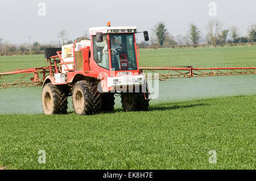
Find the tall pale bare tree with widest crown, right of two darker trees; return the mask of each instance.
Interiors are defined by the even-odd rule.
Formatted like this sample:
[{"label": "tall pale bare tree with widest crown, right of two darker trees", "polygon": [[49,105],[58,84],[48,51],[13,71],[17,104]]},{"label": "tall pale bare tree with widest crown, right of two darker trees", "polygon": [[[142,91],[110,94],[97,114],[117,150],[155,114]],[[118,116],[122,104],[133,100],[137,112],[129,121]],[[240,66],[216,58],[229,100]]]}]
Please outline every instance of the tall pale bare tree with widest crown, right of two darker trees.
[{"label": "tall pale bare tree with widest crown, right of two darker trees", "polygon": [[207,31],[207,41],[209,44],[216,47],[221,28],[224,26],[218,19],[210,20],[205,28]]}]

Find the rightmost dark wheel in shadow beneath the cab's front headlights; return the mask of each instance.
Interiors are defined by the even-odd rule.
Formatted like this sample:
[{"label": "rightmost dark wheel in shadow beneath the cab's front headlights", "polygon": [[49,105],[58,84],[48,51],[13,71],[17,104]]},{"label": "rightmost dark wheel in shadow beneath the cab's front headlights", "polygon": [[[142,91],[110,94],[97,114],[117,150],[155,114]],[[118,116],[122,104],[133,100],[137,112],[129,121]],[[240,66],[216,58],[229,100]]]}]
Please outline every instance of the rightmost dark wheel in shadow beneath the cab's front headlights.
[{"label": "rightmost dark wheel in shadow beneath the cab's front headlights", "polygon": [[121,103],[124,111],[147,111],[149,99],[143,93],[122,93]]}]

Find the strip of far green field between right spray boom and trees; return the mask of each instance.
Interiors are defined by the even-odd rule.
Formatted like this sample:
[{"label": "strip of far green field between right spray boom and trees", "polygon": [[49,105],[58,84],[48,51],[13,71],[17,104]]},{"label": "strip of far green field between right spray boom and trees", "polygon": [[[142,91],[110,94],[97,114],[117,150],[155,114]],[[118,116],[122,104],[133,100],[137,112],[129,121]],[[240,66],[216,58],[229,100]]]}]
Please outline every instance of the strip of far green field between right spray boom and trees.
[{"label": "strip of far green field between right spray boom and trees", "polygon": [[141,66],[245,67],[256,66],[256,47],[157,50],[141,49]]}]

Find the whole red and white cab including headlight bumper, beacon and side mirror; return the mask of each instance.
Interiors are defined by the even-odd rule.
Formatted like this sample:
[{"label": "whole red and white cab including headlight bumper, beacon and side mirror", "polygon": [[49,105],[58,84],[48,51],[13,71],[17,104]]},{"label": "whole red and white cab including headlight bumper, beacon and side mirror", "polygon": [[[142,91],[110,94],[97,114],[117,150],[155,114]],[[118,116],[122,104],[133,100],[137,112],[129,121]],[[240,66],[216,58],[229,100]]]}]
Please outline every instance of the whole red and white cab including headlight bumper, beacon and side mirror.
[{"label": "whole red and white cab including headlight bumper, beacon and side mirror", "polygon": [[[145,82],[139,75],[139,52],[135,26],[90,28],[92,59],[108,74],[109,90],[116,86],[137,86]],[[145,31],[144,39],[148,41]]]}]

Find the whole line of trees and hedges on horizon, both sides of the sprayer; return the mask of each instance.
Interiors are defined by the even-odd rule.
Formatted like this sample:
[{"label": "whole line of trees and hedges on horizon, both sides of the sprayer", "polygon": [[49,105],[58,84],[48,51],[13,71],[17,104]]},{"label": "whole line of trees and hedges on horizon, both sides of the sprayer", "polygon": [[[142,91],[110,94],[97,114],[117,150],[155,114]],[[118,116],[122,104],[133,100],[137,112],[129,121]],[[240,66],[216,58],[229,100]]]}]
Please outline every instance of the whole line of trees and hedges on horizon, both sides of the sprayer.
[{"label": "whole line of trees and hedges on horizon, both sides of the sprayer", "polygon": [[[152,28],[150,42],[141,41],[137,43],[139,46],[170,46],[170,45],[193,45],[207,44],[216,47],[219,44],[225,43],[250,43],[256,42],[256,23],[251,24],[247,29],[247,35],[241,36],[241,32],[237,26],[232,26],[228,29],[224,28],[224,23],[218,19],[209,20],[205,27],[206,34],[200,30],[194,23],[188,25],[186,35],[172,36],[168,31],[166,23],[158,22]],[[11,44],[9,41],[3,42],[0,37],[0,55],[7,54],[7,52],[29,52],[43,51],[45,48],[60,47],[65,44],[72,44],[75,40],[67,39],[67,31],[61,30],[57,37],[60,41],[51,41],[48,44],[40,44],[34,41],[32,44]],[[87,35],[77,37],[76,40],[88,39]],[[31,52],[30,52],[31,53]]]}]

